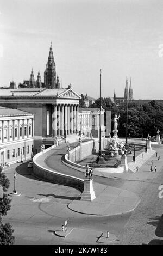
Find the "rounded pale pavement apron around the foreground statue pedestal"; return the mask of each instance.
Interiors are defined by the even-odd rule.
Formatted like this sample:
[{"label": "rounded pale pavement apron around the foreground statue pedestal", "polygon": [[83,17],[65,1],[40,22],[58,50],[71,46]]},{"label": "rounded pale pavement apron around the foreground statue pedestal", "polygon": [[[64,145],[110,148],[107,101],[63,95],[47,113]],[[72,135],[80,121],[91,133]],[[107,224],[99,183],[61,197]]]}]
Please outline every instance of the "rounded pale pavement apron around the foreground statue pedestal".
[{"label": "rounded pale pavement apron around the foreground statue pedestal", "polygon": [[92,202],[73,200],[68,205],[72,211],[90,215],[120,215],[133,211],[140,203],[136,194],[93,182],[96,198]]}]

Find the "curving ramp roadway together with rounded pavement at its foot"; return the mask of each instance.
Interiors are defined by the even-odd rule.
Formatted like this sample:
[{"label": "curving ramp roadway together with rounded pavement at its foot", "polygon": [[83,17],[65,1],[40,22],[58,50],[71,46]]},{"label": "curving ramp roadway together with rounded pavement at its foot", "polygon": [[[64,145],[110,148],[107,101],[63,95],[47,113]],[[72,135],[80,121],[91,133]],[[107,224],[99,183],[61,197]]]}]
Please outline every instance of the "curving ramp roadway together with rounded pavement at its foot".
[{"label": "curving ramp roadway together with rounded pavement at its foot", "polygon": [[[59,173],[60,170],[60,173],[74,176],[75,178],[81,179],[82,176],[84,181],[83,172],[85,172],[85,170],[83,170],[83,172],[78,172],[78,170],[67,167],[61,162],[62,155],[66,153],[65,148],[67,148],[66,145],[62,144],[51,152],[48,151],[38,157],[36,162],[51,170],[52,167],[55,166],[55,169],[53,168],[53,170],[57,173]],[[99,175],[101,175],[101,178],[105,181],[105,177],[102,174]],[[120,188],[98,184],[97,176],[96,182],[93,182],[93,188],[96,198],[92,202],[80,201],[78,198],[77,200],[73,200],[73,202],[68,205],[68,208],[81,214],[112,216],[130,212],[140,203],[140,198],[134,193]]]}]

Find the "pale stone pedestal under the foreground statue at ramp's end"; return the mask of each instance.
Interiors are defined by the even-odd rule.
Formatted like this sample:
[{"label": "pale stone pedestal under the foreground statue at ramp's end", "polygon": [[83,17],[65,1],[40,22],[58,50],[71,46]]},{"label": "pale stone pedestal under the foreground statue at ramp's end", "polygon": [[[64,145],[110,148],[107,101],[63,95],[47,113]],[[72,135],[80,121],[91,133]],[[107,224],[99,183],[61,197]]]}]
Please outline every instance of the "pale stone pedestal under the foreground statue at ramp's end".
[{"label": "pale stone pedestal under the foreground statue at ramp's end", "polygon": [[81,196],[82,201],[93,201],[95,199],[95,192],[93,190],[93,180],[85,179],[84,180],[84,191]]}]

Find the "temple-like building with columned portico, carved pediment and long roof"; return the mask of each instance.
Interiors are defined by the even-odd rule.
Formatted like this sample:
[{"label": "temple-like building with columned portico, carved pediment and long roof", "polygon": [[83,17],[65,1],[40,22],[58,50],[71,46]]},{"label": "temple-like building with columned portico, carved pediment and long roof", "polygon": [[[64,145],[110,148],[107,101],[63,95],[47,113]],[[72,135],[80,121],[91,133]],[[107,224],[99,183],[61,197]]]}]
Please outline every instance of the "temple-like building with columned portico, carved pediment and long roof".
[{"label": "temple-like building with columned portico, carved pediment and long roof", "polygon": [[52,145],[58,138],[79,133],[79,99],[71,85],[63,89],[21,88],[1,90],[0,105],[35,114],[36,153],[41,144]]}]

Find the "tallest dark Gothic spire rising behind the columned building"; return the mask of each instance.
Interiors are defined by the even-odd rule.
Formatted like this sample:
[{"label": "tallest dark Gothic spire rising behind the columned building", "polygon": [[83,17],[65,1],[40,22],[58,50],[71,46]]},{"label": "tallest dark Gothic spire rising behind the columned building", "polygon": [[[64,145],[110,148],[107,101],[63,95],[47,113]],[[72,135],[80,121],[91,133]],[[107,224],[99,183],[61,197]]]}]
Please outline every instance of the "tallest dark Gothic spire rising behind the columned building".
[{"label": "tallest dark Gothic spire rising behind the columned building", "polygon": [[[49,51],[48,61],[46,64],[46,71],[44,72],[44,84],[46,88],[57,88],[56,84],[56,71],[55,71],[55,62],[52,50],[52,42]],[[59,86],[60,88],[60,86]]]}]

